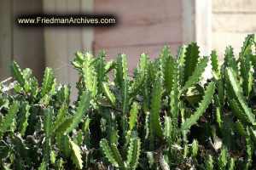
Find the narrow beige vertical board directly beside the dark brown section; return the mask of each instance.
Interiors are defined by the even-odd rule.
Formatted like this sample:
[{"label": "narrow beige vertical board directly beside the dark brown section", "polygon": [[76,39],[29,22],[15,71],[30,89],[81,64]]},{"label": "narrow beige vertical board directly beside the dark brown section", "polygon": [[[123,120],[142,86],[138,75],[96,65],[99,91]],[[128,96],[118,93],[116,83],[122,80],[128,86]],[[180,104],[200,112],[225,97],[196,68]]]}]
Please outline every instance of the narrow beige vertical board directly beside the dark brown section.
[{"label": "narrow beige vertical board directly beside the dark brown section", "polygon": [[[44,12],[63,14],[67,10],[67,0],[44,1]],[[46,65],[53,68],[60,83],[68,82],[67,28],[45,28]]]}]

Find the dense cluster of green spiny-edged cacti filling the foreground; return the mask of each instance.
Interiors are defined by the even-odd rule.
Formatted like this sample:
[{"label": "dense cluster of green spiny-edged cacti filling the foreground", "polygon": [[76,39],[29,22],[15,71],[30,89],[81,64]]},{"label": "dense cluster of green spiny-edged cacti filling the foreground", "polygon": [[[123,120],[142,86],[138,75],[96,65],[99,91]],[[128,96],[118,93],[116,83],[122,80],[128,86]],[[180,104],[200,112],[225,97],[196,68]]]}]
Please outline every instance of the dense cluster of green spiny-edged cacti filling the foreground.
[{"label": "dense cluster of green spiny-edged cacti filling the foreground", "polygon": [[107,62],[105,51],[79,52],[73,102],[50,68],[38,84],[12,62],[14,81],[0,83],[0,168],[253,169],[255,47],[248,35],[239,56],[229,46],[220,65],[195,42],[177,56],[165,46],[154,61],[141,54],[132,77],[125,54]]}]

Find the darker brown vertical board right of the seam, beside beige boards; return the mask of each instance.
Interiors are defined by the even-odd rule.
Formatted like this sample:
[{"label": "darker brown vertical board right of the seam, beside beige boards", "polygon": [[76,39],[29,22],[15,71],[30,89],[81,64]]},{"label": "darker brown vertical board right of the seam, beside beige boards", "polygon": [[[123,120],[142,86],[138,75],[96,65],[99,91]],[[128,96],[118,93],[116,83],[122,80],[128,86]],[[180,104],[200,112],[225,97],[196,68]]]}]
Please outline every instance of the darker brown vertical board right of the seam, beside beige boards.
[{"label": "darker brown vertical board right of the seam, beside beige boards", "polygon": [[[30,5],[27,5],[30,4]],[[21,68],[29,67],[38,79],[44,74],[44,31],[43,28],[20,27],[15,17],[19,14],[42,12],[41,0],[13,1],[13,54]]]}]

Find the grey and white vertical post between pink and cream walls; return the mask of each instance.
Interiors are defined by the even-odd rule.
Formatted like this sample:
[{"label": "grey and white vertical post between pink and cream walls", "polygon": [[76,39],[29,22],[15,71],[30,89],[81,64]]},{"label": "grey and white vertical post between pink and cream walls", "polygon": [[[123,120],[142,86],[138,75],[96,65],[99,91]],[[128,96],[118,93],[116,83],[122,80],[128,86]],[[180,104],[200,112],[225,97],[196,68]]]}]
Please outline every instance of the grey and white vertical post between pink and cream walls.
[{"label": "grey and white vertical post between pink and cream walls", "polygon": [[183,43],[197,42],[202,55],[212,48],[212,0],[183,0]]}]

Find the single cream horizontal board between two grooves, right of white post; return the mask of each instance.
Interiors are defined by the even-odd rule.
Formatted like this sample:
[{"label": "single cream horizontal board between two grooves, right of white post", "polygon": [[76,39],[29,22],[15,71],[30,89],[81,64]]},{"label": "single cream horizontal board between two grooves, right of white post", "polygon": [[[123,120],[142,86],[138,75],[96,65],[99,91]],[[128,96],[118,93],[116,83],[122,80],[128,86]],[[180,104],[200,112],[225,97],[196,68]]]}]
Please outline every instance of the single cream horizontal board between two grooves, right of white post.
[{"label": "single cream horizontal board between two grooves, right of white post", "polygon": [[255,14],[212,14],[212,31],[256,32]]}]

